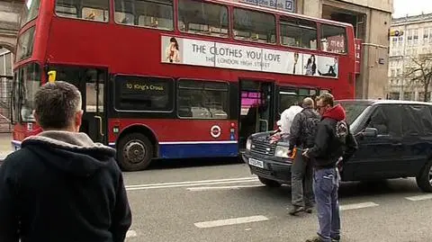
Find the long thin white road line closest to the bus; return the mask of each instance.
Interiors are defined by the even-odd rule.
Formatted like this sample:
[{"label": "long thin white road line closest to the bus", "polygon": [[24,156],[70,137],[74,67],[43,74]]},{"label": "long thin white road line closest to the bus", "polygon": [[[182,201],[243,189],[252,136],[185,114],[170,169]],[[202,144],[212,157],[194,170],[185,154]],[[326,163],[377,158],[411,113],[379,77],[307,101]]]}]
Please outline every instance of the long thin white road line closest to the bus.
[{"label": "long thin white road line closest to the bus", "polygon": [[171,188],[171,187],[184,187],[184,186],[195,186],[195,185],[207,185],[207,184],[240,184],[240,183],[251,183],[257,182],[257,177],[242,177],[233,179],[220,179],[220,180],[203,180],[203,181],[190,181],[190,182],[179,182],[179,183],[164,183],[164,184],[138,184],[138,185],[126,185],[126,190],[146,190],[146,189],[157,189],[157,188]]}]

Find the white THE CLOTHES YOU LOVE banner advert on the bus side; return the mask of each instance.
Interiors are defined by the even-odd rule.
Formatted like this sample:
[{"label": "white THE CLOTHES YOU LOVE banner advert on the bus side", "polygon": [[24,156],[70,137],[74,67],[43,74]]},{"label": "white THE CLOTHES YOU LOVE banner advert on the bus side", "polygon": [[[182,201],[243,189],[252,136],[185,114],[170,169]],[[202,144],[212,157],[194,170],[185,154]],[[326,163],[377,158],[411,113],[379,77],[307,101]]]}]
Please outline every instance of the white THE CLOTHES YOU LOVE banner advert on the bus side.
[{"label": "white THE CLOTHES YOU LOVE banner advert on the bus side", "polygon": [[169,36],[161,44],[163,63],[338,77],[338,58]]}]

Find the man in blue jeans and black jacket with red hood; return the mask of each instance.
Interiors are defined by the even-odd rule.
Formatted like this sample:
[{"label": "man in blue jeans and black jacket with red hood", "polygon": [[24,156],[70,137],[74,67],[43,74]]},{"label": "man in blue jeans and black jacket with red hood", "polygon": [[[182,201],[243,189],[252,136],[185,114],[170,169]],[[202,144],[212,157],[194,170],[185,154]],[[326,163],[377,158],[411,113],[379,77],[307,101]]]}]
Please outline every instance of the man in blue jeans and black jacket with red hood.
[{"label": "man in blue jeans and black jacket with red hood", "polygon": [[322,116],[318,124],[313,148],[303,156],[314,163],[313,191],[317,202],[320,229],[318,237],[310,242],[331,242],[340,239],[338,203],[338,161],[344,163],[357,149],[357,142],[349,130],[346,112],[341,105],[334,105],[332,94],[321,94],[317,108]]}]

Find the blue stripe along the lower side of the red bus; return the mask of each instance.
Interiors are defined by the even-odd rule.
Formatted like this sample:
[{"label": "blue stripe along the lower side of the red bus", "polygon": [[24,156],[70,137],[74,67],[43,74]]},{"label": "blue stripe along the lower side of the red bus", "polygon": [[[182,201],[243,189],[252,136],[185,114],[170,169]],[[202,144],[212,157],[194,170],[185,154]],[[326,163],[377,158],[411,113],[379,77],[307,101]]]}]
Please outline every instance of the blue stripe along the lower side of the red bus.
[{"label": "blue stripe along the lower side of the red bus", "polygon": [[238,144],[231,143],[195,143],[195,144],[160,144],[161,158],[193,157],[237,157]]}]

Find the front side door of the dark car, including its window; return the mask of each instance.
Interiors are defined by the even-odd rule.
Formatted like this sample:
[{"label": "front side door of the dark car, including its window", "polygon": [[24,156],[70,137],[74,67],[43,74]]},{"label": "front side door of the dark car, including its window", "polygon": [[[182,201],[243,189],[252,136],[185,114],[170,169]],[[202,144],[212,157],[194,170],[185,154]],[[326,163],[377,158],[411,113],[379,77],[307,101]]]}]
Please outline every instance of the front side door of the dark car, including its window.
[{"label": "front side door of the dark car, including its window", "polygon": [[378,130],[378,135],[357,139],[359,149],[350,164],[355,180],[392,176],[392,164],[403,153],[400,108],[398,104],[377,105],[365,122],[365,128]]}]

